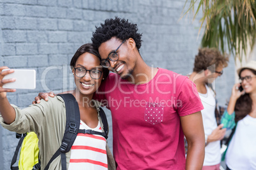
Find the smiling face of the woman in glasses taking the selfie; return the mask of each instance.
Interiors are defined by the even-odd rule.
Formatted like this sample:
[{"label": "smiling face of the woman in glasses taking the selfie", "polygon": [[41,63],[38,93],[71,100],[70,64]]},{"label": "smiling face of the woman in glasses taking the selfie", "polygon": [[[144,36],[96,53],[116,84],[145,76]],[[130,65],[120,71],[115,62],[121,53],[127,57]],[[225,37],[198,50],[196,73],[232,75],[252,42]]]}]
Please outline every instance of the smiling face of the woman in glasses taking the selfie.
[{"label": "smiling face of the woman in glasses taking the selfie", "polygon": [[75,74],[75,68],[72,70],[75,77],[76,88],[83,95],[93,95],[94,92],[101,85],[101,80],[103,79],[103,73],[101,73],[101,76],[99,77],[99,79],[93,79],[90,76],[90,72],[88,71],[88,70],[96,70],[97,72],[103,72],[103,69],[100,63],[101,62],[96,55],[92,55],[91,53],[88,53],[88,52],[83,53],[76,60],[75,68],[83,68],[87,70],[83,77],[78,77],[76,75],[78,72],[78,69],[76,69],[76,74]]}]

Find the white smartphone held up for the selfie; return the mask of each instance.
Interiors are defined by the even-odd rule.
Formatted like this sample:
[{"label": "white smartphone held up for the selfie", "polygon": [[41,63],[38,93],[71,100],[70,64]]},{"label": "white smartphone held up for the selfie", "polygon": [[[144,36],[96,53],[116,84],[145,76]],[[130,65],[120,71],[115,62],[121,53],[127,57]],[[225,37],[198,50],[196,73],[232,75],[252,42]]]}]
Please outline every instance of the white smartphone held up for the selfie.
[{"label": "white smartphone held up for the selfie", "polygon": [[[8,70],[8,69],[4,69]],[[3,70],[3,71],[4,71]],[[13,69],[14,72],[5,75],[4,79],[15,78],[15,82],[4,84],[3,88],[7,89],[35,89],[36,88],[36,70]]]}]

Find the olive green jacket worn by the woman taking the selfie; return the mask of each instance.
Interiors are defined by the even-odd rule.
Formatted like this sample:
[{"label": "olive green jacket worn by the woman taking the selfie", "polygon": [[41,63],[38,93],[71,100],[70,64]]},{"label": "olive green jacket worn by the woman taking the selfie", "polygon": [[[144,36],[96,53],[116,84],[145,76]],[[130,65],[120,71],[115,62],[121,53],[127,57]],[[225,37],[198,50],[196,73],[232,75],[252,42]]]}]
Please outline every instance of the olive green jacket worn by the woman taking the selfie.
[{"label": "olive green jacket worn by the woman taking the selfie", "polygon": [[[98,111],[98,119],[103,123],[99,116],[100,103],[95,101]],[[64,100],[60,96],[49,98],[48,101],[41,100],[39,104],[30,105],[27,108],[20,109],[12,105],[15,109],[15,121],[11,124],[5,124],[3,117],[0,115],[0,124],[3,128],[16,133],[27,133],[34,131],[38,136],[39,157],[41,160],[41,169],[45,169],[52,155],[59,149],[64,131],[66,128],[66,108]],[[108,156],[108,169],[115,169],[115,160],[106,145]],[[71,150],[66,153],[67,169],[69,166]],[[61,169],[60,155],[50,164],[49,169]]]}]

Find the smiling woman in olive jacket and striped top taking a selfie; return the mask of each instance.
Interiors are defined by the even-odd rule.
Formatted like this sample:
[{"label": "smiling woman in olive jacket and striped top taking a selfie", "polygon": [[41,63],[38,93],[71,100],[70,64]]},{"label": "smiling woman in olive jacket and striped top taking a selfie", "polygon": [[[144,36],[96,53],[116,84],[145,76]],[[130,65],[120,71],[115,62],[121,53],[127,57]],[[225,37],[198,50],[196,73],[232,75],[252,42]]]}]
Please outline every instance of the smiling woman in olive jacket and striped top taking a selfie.
[{"label": "smiling woman in olive jacket and striped top taking a selfie", "polygon": [[[71,94],[78,101],[80,129],[92,129],[101,133],[104,132],[99,116],[101,103],[92,100],[92,96],[101,85],[101,81],[108,77],[109,71],[101,67],[100,63],[99,53],[92,44],[84,44],[76,51],[70,66],[76,84]],[[36,133],[39,139],[41,169],[45,169],[46,164],[59,149],[66,129],[64,100],[60,96],[55,96],[48,102],[41,101],[39,104],[24,109],[10,105],[6,95],[7,92],[14,92],[15,89],[5,89],[3,85],[15,80],[3,80],[5,75],[13,72],[13,70],[2,71],[3,69],[8,69],[8,67],[0,67],[0,124],[3,128],[16,133],[31,131]],[[88,103],[83,102],[84,98]],[[66,153],[66,158],[68,169],[115,169],[115,161],[106,139],[99,134],[86,136],[78,134],[73,147]],[[53,160],[49,169],[62,169],[60,156]]]}]

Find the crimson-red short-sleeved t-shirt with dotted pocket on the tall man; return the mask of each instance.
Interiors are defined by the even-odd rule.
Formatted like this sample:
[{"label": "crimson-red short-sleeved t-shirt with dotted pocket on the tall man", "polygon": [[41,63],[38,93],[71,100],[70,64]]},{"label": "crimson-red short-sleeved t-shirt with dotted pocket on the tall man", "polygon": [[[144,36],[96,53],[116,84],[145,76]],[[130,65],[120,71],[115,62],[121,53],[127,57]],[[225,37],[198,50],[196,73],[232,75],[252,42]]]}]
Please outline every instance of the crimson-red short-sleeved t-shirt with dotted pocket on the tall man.
[{"label": "crimson-red short-sleeved t-shirt with dotted pocket on the tall man", "polygon": [[111,73],[95,98],[110,108],[117,169],[185,169],[180,116],[203,110],[195,84],[160,69],[145,84]]}]

